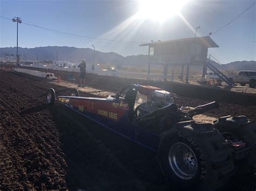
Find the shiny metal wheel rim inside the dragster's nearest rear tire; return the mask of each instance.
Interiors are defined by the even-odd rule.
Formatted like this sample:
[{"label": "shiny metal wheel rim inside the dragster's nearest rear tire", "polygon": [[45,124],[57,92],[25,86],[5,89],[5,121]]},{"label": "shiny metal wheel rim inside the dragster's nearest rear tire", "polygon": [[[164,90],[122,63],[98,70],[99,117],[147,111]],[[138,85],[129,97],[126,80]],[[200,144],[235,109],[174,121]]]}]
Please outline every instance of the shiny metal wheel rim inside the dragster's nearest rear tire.
[{"label": "shiny metal wheel rim inside the dragster's nearest rear tire", "polygon": [[185,143],[175,143],[169,149],[169,164],[172,171],[181,179],[189,180],[197,173],[196,154]]}]

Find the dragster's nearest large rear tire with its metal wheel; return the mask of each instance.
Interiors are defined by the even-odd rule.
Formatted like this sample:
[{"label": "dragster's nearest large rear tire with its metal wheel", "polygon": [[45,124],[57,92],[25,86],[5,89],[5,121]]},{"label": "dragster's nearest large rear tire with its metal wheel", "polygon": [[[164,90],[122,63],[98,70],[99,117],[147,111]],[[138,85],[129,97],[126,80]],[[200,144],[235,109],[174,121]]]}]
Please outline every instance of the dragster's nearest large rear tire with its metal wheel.
[{"label": "dragster's nearest large rear tire with its metal wheel", "polygon": [[[208,135],[212,138],[204,135],[206,139],[199,140],[198,132],[188,125],[162,138],[159,164],[166,179],[178,190],[214,190],[222,186],[233,171],[230,148],[218,146],[225,143],[225,139],[217,130],[209,132],[214,133]],[[211,141],[208,143],[208,140]],[[220,177],[225,173],[226,177]]]}]

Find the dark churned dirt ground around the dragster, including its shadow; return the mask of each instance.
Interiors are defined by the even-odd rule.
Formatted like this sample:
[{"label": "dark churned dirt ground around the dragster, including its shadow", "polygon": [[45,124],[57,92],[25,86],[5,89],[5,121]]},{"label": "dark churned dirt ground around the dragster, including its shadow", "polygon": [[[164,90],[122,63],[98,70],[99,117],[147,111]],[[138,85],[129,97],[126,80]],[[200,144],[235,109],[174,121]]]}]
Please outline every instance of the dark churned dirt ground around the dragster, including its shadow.
[{"label": "dark churned dirt ground around the dragster, including its shadow", "polygon": [[[0,189],[170,189],[151,151],[67,108],[46,105],[45,93],[52,86],[62,95],[69,93],[68,88],[0,70]],[[207,101],[177,99],[180,105],[187,102],[196,106]],[[255,107],[220,106],[208,115],[256,119]],[[237,180],[228,188],[252,187]]]}]

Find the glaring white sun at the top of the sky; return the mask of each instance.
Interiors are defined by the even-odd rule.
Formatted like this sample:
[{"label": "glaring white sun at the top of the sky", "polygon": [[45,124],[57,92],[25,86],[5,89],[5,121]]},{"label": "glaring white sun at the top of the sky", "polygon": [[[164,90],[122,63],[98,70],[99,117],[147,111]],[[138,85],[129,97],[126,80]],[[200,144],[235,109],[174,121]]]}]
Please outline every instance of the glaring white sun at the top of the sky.
[{"label": "glaring white sun at the top of the sky", "polygon": [[189,0],[140,0],[138,19],[151,19],[163,22],[174,15],[178,15],[180,9]]}]

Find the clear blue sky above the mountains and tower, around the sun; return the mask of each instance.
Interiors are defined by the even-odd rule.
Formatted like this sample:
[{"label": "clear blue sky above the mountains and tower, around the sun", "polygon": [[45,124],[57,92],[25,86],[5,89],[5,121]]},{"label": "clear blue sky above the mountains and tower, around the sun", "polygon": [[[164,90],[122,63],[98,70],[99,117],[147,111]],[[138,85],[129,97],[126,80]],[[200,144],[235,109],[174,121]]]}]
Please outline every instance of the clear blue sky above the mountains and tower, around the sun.
[{"label": "clear blue sky above the mountains and tower, around the sun", "polygon": [[[19,47],[92,48],[93,44],[97,51],[127,56],[147,54],[147,47],[140,47],[140,42],[194,37],[197,26],[200,26],[197,36],[208,36],[209,32],[217,31],[254,2],[190,0],[178,15],[158,21],[134,17],[140,10],[139,0],[0,0],[0,16],[22,18],[18,33]],[[221,63],[256,60],[255,18],[256,5],[224,29],[212,34],[211,38],[219,48],[210,48],[208,53]],[[93,39],[43,30],[24,23]],[[16,47],[16,23],[11,20],[0,18],[0,47]]]}]

